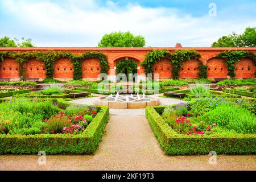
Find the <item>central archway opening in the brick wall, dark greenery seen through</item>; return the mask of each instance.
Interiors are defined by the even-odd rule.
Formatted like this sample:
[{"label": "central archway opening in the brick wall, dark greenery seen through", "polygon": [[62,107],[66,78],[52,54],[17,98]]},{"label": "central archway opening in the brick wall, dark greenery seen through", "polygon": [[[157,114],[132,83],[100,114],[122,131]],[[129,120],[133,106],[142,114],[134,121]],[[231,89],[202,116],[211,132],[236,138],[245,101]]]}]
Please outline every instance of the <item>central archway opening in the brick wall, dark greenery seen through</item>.
[{"label": "central archway opening in the brick wall, dark greenery seen through", "polygon": [[[137,82],[138,63],[133,60],[121,60],[117,62],[117,82],[120,81],[133,81]],[[127,80],[125,80],[125,78]]]}]

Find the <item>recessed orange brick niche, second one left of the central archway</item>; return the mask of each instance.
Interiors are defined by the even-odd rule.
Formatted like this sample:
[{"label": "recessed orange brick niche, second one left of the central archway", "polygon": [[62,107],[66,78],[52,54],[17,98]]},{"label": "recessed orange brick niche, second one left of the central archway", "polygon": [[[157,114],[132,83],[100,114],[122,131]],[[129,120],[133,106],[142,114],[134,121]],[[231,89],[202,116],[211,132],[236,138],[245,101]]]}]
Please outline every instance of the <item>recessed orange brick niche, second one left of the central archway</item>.
[{"label": "recessed orange brick niche, second one left of the central archway", "polygon": [[53,78],[61,80],[72,80],[74,74],[73,63],[67,58],[56,60],[53,64]]}]

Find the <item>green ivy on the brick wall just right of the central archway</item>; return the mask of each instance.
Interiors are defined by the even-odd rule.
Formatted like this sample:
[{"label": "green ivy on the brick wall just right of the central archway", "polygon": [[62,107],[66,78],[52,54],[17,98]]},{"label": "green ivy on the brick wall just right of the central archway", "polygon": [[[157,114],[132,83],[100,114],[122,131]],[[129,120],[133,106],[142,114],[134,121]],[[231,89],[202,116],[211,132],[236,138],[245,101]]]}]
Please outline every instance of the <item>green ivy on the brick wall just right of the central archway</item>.
[{"label": "green ivy on the brick wall just right of the central archway", "polygon": [[167,50],[153,50],[146,54],[146,59],[141,63],[145,68],[145,73],[154,73],[154,64],[164,57],[169,59],[172,64],[172,78],[179,79],[183,61],[199,59],[201,55],[195,50],[176,50],[172,53]]}]

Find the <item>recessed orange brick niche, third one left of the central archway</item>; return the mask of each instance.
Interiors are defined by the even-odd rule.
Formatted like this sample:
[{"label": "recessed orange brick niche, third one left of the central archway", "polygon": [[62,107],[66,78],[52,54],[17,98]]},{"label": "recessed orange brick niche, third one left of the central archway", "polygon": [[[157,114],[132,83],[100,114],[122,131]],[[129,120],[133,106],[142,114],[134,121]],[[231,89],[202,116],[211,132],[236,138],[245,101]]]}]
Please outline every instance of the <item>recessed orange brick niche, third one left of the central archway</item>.
[{"label": "recessed orange brick niche, third one left of the central archway", "polygon": [[46,78],[46,68],[43,61],[36,59],[28,60],[25,65],[27,78]]}]

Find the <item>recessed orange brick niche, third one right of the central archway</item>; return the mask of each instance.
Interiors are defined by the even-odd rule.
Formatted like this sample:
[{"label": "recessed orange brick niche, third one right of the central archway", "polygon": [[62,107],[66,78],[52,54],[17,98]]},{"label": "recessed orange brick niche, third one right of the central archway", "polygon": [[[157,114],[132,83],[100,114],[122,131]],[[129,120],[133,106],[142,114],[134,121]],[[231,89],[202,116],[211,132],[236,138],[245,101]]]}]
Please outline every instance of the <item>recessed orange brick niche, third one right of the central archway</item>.
[{"label": "recessed orange brick niche, third one right of the central archway", "polygon": [[207,77],[208,78],[227,78],[228,68],[224,63],[224,59],[213,57],[207,60]]}]

